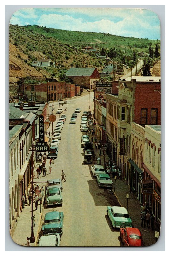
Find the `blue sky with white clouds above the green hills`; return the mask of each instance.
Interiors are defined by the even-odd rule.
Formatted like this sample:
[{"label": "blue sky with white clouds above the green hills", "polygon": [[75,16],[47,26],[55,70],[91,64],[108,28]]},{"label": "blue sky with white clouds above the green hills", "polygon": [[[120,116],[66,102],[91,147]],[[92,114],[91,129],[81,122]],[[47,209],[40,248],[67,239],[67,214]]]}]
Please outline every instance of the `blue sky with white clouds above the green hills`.
[{"label": "blue sky with white clouds above the green hills", "polygon": [[160,40],[158,15],[147,9],[26,8],[15,12],[10,23]]}]

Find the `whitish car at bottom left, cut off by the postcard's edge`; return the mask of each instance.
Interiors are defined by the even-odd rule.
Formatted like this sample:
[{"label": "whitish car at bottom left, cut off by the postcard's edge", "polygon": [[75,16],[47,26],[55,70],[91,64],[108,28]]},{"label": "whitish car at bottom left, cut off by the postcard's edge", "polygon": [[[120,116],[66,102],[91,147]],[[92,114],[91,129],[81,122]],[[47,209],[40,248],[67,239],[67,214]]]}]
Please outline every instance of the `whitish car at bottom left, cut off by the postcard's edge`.
[{"label": "whitish car at bottom left, cut off by the postcard's edge", "polygon": [[40,237],[40,240],[38,242],[38,246],[55,247],[55,246],[60,246],[60,243],[61,243],[61,237],[60,237],[59,234],[57,234],[57,235],[46,235],[46,236],[41,236]]}]

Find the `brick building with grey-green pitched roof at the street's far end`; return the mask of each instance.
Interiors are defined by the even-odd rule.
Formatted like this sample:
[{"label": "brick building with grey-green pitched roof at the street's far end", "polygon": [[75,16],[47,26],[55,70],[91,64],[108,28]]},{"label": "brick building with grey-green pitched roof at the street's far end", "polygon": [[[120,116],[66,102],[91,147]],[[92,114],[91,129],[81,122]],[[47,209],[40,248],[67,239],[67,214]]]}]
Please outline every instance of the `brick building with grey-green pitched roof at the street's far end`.
[{"label": "brick building with grey-green pitched roof at the street's far end", "polygon": [[70,68],[67,70],[67,77],[83,88],[94,89],[94,82],[100,80],[97,68]]}]

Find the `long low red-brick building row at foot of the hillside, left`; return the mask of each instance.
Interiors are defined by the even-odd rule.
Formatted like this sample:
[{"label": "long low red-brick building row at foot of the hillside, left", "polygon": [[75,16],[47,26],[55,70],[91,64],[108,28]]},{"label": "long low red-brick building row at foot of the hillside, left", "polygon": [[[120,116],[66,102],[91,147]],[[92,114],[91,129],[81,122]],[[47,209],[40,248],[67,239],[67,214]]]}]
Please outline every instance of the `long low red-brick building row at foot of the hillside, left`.
[{"label": "long low red-brick building row at foot of the hillside, left", "polygon": [[24,95],[31,99],[31,93],[34,94],[34,100],[39,102],[55,101],[75,96],[75,85],[66,82],[47,82],[39,84],[23,84]]}]

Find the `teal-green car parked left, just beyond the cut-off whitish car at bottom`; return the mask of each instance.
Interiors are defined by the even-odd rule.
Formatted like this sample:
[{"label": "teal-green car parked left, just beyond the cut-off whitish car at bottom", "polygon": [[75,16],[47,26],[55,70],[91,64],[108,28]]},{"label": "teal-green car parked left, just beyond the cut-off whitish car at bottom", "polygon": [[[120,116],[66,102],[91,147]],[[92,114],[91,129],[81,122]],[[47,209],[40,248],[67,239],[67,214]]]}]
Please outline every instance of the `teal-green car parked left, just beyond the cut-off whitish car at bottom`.
[{"label": "teal-green car parked left, just beyond the cut-off whitish car at bottom", "polygon": [[63,212],[47,212],[44,217],[44,224],[43,224],[43,235],[48,234],[63,234]]}]

